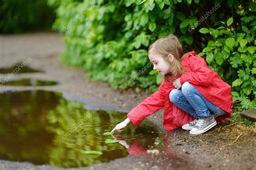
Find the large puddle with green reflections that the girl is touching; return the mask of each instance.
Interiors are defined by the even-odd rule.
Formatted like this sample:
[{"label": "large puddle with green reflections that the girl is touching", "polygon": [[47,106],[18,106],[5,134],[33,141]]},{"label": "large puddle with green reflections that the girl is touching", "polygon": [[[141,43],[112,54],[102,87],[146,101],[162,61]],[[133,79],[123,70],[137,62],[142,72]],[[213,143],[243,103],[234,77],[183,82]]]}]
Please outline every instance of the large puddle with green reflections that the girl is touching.
[{"label": "large puddle with green reflections that the girl is touching", "polygon": [[160,150],[154,142],[162,139],[147,124],[137,128],[129,124],[116,133],[122,145],[106,144],[106,139],[113,138],[103,133],[110,132],[126,114],[85,110],[84,104],[66,100],[59,92],[8,92],[0,94],[0,101],[0,159],[68,168],[108,162],[129,153],[139,155],[146,149]]}]

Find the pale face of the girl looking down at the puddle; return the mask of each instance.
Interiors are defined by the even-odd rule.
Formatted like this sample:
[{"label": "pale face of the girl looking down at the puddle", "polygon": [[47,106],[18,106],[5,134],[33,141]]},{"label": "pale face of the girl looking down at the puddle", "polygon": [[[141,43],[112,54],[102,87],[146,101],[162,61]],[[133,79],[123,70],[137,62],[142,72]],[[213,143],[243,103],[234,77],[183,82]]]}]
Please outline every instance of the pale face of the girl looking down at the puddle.
[{"label": "pale face of the girl looking down at the puddle", "polygon": [[153,63],[153,70],[158,71],[162,76],[169,73],[170,65],[165,62],[162,57],[155,55],[152,52],[149,52],[150,62]]}]

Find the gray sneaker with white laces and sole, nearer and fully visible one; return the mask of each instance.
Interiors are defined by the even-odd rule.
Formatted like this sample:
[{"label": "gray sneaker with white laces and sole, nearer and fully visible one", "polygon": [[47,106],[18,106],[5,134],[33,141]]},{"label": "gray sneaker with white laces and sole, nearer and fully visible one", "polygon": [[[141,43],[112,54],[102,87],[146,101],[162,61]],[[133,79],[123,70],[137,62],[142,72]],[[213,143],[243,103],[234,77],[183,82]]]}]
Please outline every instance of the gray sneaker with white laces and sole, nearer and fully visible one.
[{"label": "gray sneaker with white laces and sole, nearer and fully visible one", "polygon": [[217,125],[217,122],[214,118],[213,114],[210,114],[208,118],[199,117],[198,122],[194,127],[190,130],[190,134],[201,134],[210,130],[212,127]]}]

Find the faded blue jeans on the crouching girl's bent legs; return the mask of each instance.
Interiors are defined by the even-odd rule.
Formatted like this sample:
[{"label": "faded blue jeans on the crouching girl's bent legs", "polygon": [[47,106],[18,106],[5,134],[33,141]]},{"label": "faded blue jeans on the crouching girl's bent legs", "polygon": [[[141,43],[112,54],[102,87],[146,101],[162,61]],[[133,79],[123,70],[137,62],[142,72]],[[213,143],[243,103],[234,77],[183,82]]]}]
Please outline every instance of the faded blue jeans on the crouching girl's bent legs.
[{"label": "faded blue jeans on the crouching girl's bent legs", "polygon": [[181,90],[173,89],[169,94],[169,99],[174,105],[194,118],[208,117],[210,113],[219,117],[227,113],[208,101],[187,81],[183,83]]}]

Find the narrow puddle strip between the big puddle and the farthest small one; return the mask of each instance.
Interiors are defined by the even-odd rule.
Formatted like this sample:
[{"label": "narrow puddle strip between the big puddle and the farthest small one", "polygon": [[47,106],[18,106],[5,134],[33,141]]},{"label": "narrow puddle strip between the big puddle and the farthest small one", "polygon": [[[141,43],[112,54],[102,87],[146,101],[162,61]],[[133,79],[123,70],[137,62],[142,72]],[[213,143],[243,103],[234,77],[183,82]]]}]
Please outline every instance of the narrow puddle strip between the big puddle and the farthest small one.
[{"label": "narrow puddle strip between the big puddle and the farthest small one", "polygon": [[19,80],[10,80],[10,81],[0,81],[0,85],[8,86],[52,86],[57,85],[56,81],[43,81],[37,79],[19,79]]}]

